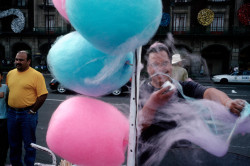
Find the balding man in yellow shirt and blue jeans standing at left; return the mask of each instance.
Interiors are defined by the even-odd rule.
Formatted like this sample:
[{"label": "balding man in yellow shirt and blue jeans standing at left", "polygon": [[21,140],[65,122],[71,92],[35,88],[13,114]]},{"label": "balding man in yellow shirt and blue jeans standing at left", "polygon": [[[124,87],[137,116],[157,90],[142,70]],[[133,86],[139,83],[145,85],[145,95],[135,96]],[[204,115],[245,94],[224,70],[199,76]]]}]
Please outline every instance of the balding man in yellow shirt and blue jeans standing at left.
[{"label": "balding man in yellow shirt and blue jeans standing at left", "polygon": [[30,146],[36,143],[38,109],[44,103],[48,91],[43,75],[30,67],[31,55],[26,51],[16,54],[16,69],[9,71],[6,84],[8,97],[8,136],[10,162],[13,166],[23,165],[22,143],[24,143],[26,166],[33,166],[36,150]]}]

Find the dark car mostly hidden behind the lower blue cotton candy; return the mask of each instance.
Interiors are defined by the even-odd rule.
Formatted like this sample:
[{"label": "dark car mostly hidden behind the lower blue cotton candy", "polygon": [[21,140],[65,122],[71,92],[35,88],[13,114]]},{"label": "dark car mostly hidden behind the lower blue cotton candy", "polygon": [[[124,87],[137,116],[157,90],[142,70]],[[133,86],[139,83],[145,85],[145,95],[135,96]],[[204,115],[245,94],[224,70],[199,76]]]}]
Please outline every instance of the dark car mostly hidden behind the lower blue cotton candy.
[{"label": "dark car mostly hidden behind the lower blue cotton candy", "polygon": [[[71,90],[65,88],[56,79],[52,79],[50,81],[49,87],[51,90],[56,90],[58,93],[66,93],[67,91],[71,91]],[[131,89],[131,79],[121,88],[112,91],[111,94],[114,96],[119,96],[121,94],[130,93],[130,89]]]}]

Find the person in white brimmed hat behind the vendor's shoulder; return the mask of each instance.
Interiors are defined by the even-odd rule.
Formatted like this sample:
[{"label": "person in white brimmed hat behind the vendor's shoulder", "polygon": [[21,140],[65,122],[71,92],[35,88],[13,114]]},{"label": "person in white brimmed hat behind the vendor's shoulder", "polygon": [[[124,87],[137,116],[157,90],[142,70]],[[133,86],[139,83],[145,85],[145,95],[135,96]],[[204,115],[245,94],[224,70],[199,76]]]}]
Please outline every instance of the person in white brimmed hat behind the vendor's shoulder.
[{"label": "person in white brimmed hat behind the vendor's shoulder", "polygon": [[182,67],[182,59],[180,54],[174,54],[172,57],[172,78],[177,81],[186,81],[188,72]]}]

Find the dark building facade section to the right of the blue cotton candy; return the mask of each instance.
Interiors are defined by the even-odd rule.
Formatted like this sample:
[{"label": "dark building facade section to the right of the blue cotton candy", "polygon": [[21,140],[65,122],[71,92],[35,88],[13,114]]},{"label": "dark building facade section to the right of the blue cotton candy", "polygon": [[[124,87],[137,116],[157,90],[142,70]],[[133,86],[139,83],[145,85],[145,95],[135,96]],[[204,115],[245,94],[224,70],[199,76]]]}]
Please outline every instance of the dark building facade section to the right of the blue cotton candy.
[{"label": "dark building facade section to the right of the blue cotton candy", "polygon": [[[197,76],[229,73],[234,67],[250,70],[250,23],[239,21],[238,12],[249,0],[163,0],[169,14],[167,26],[160,26],[153,40],[166,40],[172,32],[178,53],[186,60],[189,74]],[[213,11],[209,25],[199,23],[203,9]],[[244,14],[244,13],[243,13]],[[247,15],[247,13],[245,13]],[[185,50],[183,52],[183,50]],[[183,52],[183,53],[182,53]]]}]

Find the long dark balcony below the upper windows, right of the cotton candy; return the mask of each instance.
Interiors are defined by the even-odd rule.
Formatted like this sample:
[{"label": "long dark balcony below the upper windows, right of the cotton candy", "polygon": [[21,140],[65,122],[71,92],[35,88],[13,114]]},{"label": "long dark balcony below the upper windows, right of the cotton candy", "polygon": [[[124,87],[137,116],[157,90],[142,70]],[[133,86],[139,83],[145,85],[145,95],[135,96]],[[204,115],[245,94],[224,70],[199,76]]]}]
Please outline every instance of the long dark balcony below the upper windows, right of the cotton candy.
[{"label": "long dark balcony below the upper windows, right of the cotton candy", "polygon": [[172,32],[175,35],[200,35],[200,36],[249,36],[250,27],[230,27],[227,30],[220,28],[210,27],[185,27],[181,29],[169,30],[168,27],[159,27],[156,35],[166,35],[168,32]]}]

